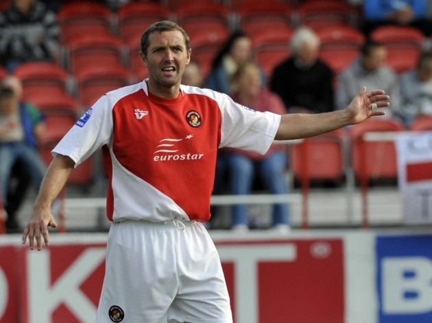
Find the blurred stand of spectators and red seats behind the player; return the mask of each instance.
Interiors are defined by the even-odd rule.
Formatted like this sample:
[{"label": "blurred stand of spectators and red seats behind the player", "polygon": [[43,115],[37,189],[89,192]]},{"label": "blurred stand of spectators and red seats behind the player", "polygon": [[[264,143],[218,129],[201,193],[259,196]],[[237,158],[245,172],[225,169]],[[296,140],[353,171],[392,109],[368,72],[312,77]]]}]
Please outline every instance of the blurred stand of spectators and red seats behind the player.
[{"label": "blurred stand of spectators and red seats behind the player", "polygon": [[[264,156],[221,150],[215,194],[287,194],[304,177],[340,185],[346,167],[356,179],[394,183],[393,144],[371,143],[361,161],[361,135],[432,129],[432,1],[3,0],[0,10],[0,213],[9,231],[19,230],[27,190],[37,190],[51,148],[80,114],[105,92],[147,77],[141,34],[160,20],[176,21],[191,38],[182,83],[252,109],[331,112],[363,85],[392,98],[384,118],[314,138],[308,148],[274,144]],[[104,176],[93,156],[69,185],[91,196]],[[232,205],[230,218],[237,231],[254,226],[245,205]],[[287,231],[289,218],[287,203],[274,205],[272,226]]]}]

